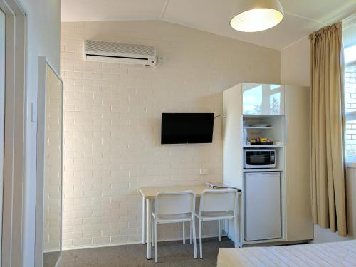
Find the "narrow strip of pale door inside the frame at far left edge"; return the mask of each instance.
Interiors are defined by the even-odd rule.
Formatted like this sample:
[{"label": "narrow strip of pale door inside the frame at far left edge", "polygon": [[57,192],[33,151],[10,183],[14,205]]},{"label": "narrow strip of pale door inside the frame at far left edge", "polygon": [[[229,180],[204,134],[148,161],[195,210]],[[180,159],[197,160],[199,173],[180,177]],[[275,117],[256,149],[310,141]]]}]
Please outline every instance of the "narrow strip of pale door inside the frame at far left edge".
[{"label": "narrow strip of pale door inside the frame at far left edge", "polygon": [[4,129],[5,129],[5,14],[0,9],[0,263],[2,239],[2,197],[4,183]]}]

